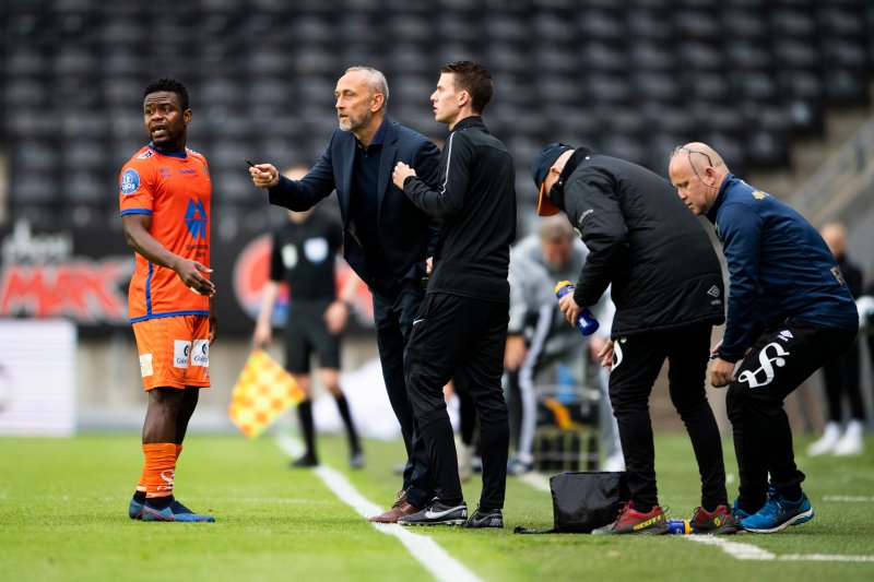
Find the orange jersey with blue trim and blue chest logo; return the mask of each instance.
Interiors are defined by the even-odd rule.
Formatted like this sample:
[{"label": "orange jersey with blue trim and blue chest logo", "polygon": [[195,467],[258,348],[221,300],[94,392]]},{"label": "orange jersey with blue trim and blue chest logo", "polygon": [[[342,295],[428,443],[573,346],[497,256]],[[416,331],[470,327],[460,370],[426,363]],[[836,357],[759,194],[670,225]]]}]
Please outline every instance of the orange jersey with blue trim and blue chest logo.
[{"label": "orange jersey with blue trim and blue chest logo", "polygon": [[[122,216],[150,215],[149,233],[167,250],[210,266],[212,181],[201,154],[164,154],[146,145],[121,168],[118,195]],[[135,257],[128,293],[131,322],[209,314],[209,297],[186,287],[172,269]]]}]

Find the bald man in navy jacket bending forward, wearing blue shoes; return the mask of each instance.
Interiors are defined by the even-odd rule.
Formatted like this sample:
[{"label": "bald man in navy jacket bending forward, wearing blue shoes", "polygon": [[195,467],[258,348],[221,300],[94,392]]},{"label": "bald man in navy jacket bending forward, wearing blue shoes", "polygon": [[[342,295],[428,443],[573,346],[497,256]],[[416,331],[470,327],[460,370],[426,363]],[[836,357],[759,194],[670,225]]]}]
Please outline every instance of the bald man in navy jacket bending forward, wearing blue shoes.
[{"label": "bald man in navy jacket bending forward, wearing blue shoes", "polygon": [[729,263],[725,332],[708,378],[729,385],[741,476],[735,518],[756,533],[799,525],[813,508],[801,489],[783,399],[852,344],[855,304],[816,229],[732,175],[710,146],[677,147],[669,173],[686,206],[716,225]]}]

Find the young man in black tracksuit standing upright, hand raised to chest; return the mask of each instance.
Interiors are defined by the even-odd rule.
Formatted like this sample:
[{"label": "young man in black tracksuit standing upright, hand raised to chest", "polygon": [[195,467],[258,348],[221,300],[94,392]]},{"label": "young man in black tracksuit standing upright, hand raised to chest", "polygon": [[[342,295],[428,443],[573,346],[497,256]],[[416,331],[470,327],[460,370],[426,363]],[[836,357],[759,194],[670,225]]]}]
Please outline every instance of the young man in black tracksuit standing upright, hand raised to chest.
[{"label": "young man in black tracksuit standing upright, hand raised to chest", "polygon": [[[444,147],[437,190],[403,163],[392,179],[408,198],[441,223],[433,272],[413,321],[406,387],[428,449],[437,498],[402,525],[465,524],[503,527],[509,428],[500,385],[509,318],[507,270],[516,229],[516,171],[507,147],[480,114],[492,97],[492,78],[480,64],[441,69],[430,97],[437,121],[451,133]],[[470,520],[458,476],[452,426],[442,387],[463,380],[480,420],[483,491]]]}]

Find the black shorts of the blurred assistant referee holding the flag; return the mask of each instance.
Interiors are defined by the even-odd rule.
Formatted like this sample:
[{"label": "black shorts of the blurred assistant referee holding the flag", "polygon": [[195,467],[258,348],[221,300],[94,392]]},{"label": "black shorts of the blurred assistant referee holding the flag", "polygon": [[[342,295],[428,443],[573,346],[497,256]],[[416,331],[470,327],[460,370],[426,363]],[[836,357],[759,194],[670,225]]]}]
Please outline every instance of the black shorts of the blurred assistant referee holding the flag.
[{"label": "black shorts of the blurred assistant referee holding the flag", "polygon": [[340,369],[340,335],[328,332],[324,310],[328,300],[295,299],[288,307],[285,325],[285,369],[292,373],[309,373],[310,356],[319,356],[320,368]]}]

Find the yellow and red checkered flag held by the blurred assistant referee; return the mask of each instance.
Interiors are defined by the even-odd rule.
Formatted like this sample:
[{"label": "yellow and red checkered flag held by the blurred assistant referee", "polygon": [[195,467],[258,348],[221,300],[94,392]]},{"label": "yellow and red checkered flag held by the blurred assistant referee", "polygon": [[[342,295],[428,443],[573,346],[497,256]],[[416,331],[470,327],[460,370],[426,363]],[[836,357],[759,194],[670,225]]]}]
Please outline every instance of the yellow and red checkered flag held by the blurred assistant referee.
[{"label": "yellow and red checkered flag held by the blurred assistant referee", "polygon": [[305,397],[285,368],[263,349],[256,349],[234,384],[227,415],[244,435],[253,439]]}]

